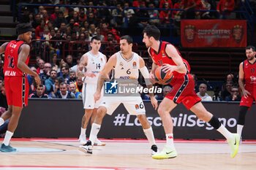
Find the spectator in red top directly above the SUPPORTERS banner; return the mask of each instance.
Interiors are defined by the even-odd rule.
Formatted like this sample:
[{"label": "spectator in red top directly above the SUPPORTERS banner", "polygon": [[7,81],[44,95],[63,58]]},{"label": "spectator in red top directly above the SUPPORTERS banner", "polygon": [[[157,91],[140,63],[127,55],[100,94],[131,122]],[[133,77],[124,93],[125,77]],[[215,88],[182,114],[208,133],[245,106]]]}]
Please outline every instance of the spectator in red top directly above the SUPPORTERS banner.
[{"label": "spectator in red top directly above the SUPPORTERS banner", "polygon": [[226,19],[234,9],[234,0],[220,0],[217,4],[217,12],[219,12],[220,19]]}]

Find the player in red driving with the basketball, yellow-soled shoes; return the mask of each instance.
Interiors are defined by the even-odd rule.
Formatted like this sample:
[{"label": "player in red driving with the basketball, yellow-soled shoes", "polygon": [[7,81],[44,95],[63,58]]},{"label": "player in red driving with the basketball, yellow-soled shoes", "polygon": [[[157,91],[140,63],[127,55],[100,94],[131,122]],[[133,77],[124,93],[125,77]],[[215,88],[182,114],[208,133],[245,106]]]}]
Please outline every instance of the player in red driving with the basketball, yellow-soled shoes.
[{"label": "player in red driving with the basketball, yellow-soled shoes", "polygon": [[154,81],[154,71],[158,66],[163,66],[165,72],[173,72],[173,80],[170,82],[172,90],[165,96],[159,104],[158,113],[162,118],[162,125],[166,134],[166,145],[162,152],[152,155],[155,159],[175,158],[176,149],[173,144],[173,120],[170,112],[177,104],[184,104],[187,109],[197,115],[200,120],[210,123],[225,138],[231,147],[231,157],[235,157],[238,152],[240,137],[238,134],[231,134],[227,128],[222,125],[217,117],[203,107],[201,99],[195,93],[195,82],[189,74],[189,63],[181,57],[176,47],[168,42],[159,41],[160,31],[156,26],[146,26],[143,30],[143,42],[148,47],[148,53],[151,55],[152,69],[150,72],[151,81]]}]

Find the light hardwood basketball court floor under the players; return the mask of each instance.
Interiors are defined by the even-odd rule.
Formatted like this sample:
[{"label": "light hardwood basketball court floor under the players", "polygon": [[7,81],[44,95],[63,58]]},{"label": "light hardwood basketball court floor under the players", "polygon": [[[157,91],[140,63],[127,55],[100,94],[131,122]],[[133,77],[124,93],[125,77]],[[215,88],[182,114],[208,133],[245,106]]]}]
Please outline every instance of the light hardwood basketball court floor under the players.
[{"label": "light hardwood basketball court floor under the players", "polygon": [[[243,142],[236,158],[230,158],[224,141],[176,140],[178,157],[151,158],[146,140],[105,140],[105,147],[94,147],[93,155],[78,150],[77,139],[13,139],[18,152],[0,152],[0,170],[80,170],[80,169],[256,169],[256,141]],[[160,149],[165,141],[158,140]]]}]

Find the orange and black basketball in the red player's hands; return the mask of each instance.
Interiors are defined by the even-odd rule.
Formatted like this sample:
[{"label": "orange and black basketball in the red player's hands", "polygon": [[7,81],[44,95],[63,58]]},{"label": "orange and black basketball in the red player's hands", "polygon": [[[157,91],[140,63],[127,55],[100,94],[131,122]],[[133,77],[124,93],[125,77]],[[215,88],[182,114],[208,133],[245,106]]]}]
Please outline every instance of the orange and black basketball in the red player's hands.
[{"label": "orange and black basketball in the red player's hands", "polygon": [[154,77],[159,84],[168,84],[173,79],[173,72],[164,72],[162,66],[157,67],[154,72]]}]

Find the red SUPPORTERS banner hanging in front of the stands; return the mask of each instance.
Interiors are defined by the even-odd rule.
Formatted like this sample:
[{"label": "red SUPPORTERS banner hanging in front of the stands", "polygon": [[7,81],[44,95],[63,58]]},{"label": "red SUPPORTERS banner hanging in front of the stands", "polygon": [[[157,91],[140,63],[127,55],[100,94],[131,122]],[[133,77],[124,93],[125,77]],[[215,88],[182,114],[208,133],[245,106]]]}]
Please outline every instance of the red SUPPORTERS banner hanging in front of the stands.
[{"label": "red SUPPORTERS banner hanging in front of the stands", "polygon": [[183,47],[246,47],[246,20],[181,20]]}]

